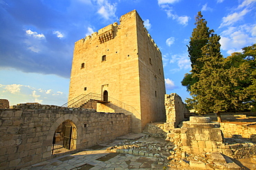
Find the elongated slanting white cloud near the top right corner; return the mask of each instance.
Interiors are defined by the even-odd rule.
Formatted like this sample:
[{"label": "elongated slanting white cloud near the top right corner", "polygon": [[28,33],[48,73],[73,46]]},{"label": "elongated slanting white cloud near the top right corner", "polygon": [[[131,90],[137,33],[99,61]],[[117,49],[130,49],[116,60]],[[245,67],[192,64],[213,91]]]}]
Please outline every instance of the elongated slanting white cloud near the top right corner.
[{"label": "elongated slanting white cloud near the top right corner", "polygon": [[241,12],[234,12],[232,14],[229,14],[227,17],[222,18],[222,23],[219,26],[219,28],[222,28],[223,26],[233,25],[237,21],[240,21],[244,18],[244,15],[246,15],[250,10],[244,9]]}]

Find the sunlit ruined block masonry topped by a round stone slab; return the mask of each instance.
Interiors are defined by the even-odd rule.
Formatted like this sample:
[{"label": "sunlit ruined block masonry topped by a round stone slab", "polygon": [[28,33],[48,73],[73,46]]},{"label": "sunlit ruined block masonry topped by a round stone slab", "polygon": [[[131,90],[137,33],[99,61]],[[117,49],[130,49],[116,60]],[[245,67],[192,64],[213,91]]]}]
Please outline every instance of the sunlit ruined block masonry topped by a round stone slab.
[{"label": "sunlit ruined block masonry topped by a round stone slab", "polygon": [[192,116],[183,122],[183,127],[172,130],[166,140],[176,145],[176,151],[205,155],[219,152],[232,158],[247,158],[256,155],[256,143],[250,140],[223,138],[218,123],[209,117]]}]

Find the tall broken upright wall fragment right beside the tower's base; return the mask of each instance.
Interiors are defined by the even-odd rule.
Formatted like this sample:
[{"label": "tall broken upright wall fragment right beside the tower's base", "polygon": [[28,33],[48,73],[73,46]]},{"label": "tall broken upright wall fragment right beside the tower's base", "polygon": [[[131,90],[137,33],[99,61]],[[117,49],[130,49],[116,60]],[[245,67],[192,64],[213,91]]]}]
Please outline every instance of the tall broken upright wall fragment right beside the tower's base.
[{"label": "tall broken upright wall fragment right beside the tower's base", "polygon": [[176,93],[165,94],[166,123],[165,129],[174,129],[184,120],[184,115],[190,111],[185,108],[181,97]]}]

